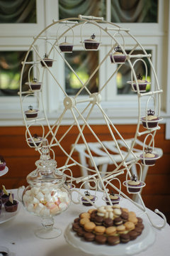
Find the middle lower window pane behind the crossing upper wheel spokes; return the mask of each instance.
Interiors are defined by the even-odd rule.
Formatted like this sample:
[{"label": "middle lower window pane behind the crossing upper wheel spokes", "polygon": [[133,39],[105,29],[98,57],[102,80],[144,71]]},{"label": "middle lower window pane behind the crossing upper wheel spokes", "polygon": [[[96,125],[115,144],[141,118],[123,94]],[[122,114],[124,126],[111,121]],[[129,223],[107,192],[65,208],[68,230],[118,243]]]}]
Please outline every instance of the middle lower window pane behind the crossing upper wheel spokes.
[{"label": "middle lower window pane behind the crossing upper wheel spokes", "polygon": [[[74,50],[72,54],[65,54],[65,59],[72,66],[83,83],[85,83],[90,75],[98,66],[98,51]],[[82,87],[81,82],[76,75],[65,64],[65,87],[68,95],[75,95]],[[86,85],[88,90],[98,92],[98,71]],[[81,91],[81,95],[87,95],[86,90]]]}]

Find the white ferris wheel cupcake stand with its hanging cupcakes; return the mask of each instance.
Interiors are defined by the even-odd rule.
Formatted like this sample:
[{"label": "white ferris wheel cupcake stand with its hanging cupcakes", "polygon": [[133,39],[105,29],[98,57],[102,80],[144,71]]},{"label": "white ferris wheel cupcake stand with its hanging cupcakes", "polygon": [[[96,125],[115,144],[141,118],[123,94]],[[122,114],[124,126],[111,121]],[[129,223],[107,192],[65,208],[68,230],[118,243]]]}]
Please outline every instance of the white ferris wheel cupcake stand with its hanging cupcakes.
[{"label": "white ferris wheel cupcake stand with its hanging cupcakes", "polygon": [[[93,33],[89,34],[87,37],[84,35],[84,28],[88,26],[88,28],[92,28]],[[44,36],[45,32],[53,29],[56,31],[57,36]],[[62,29],[61,29],[62,28]],[[75,36],[75,31],[79,31],[79,35]],[[101,47],[103,36],[108,36],[111,38],[111,46],[108,50],[108,53],[104,56],[98,66],[93,70],[89,78],[86,82],[83,82],[79,77],[79,74],[76,73],[74,68],[68,63],[66,58],[64,58],[64,53],[72,54],[74,51],[74,47],[79,46],[82,50],[98,50]],[[132,50],[130,53],[127,53],[127,49],[125,46],[125,38],[131,38],[133,42]],[[38,51],[38,44],[41,44],[42,41],[46,42],[47,52],[42,56]],[[77,45],[74,42],[77,41]],[[36,47],[35,47],[36,45]],[[141,54],[134,54],[135,50],[140,49]],[[28,61],[28,54],[30,50],[33,51],[35,55],[35,59],[31,62]],[[69,68],[69,70],[74,73],[75,77],[81,83],[81,88],[79,92],[77,92],[74,96],[67,95],[67,92],[62,87],[60,79],[55,75],[55,70],[53,65],[55,65],[54,61],[56,61],[56,56],[60,56],[65,65]],[[87,85],[94,78],[94,75],[98,70],[101,69],[101,66],[106,61],[110,61],[111,65],[115,65],[115,70],[111,74],[109,78],[101,85],[98,89],[98,92],[91,93],[88,89]],[[135,60],[135,61],[134,61]],[[147,81],[147,64],[146,60],[150,65],[152,70],[152,80],[154,83]],[[101,92],[106,89],[108,82],[117,74],[120,67],[124,65],[124,63],[128,63],[131,69],[131,80],[128,83],[132,87],[132,91],[136,95],[137,105],[138,105],[138,117],[137,117],[137,127],[135,136],[132,140],[132,144],[129,145],[123,135],[118,132],[118,129],[115,127],[111,119],[108,117],[108,114],[103,110],[101,105]],[[142,62],[145,66],[145,74],[142,74],[145,79],[142,79],[142,75],[135,73],[135,65],[137,62]],[[89,186],[89,189],[95,191],[103,191],[103,203],[112,204],[111,197],[109,196],[108,186],[113,188],[113,191],[116,191],[118,197],[125,197],[129,201],[135,204],[137,208],[141,210],[141,215],[146,214],[149,218],[149,222],[152,224],[154,228],[162,229],[166,224],[166,218],[163,213],[159,210],[154,210],[155,213],[158,213],[162,216],[162,225],[157,225],[153,223],[152,219],[149,217],[149,213],[147,208],[145,207],[145,203],[142,200],[141,196],[141,188],[146,184],[141,181],[142,169],[145,166],[152,166],[155,164],[159,156],[154,152],[154,137],[157,130],[160,129],[159,122],[161,121],[160,115],[160,96],[162,90],[159,88],[159,82],[157,80],[157,75],[154,70],[154,66],[152,65],[151,54],[148,54],[145,48],[142,47],[141,43],[137,41],[137,39],[130,34],[130,30],[128,28],[121,28],[118,25],[115,25],[111,22],[104,21],[103,18],[98,18],[94,16],[81,16],[79,18],[67,18],[60,21],[53,21],[47,28],[45,28],[42,32],[39,33],[33,40],[33,43],[30,45],[28,53],[26,54],[26,58],[23,60],[23,68],[21,71],[21,82],[20,82],[20,100],[21,100],[21,110],[23,113],[23,122],[26,126],[26,142],[28,146],[34,148],[35,150],[42,154],[42,145],[43,142],[48,142],[48,149],[52,151],[52,158],[55,159],[55,148],[59,148],[62,150],[64,155],[67,157],[67,160],[64,163],[64,166],[58,166],[57,171],[62,171],[62,174],[67,178],[67,185],[69,184],[69,191],[73,193],[77,191],[78,198],[74,203],[84,204],[84,200],[86,203],[91,205],[91,198],[89,197],[88,191],[86,194],[82,194],[80,190],[74,189],[74,184],[77,183],[81,188],[86,185]],[[23,72],[25,71],[27,65],[30,66],[30,70],[33,70],[34,76],[33,81],[30,80],[30,70],[28,72],[28,85],[29,90],[23,91]],[[38,70],[38,72],[36,72]],[[64,95],[63,107],[64,110],[60,117],[57,118],[55,124],[52,126],[47,117],[47,112],[45,110],[43,98],[45,87],[45,74],[50,75],[50,77],[55,81],[55,85],[62,90]],[[37,77],[35,76],[37,75]],[[151,89],[146,91],[147,84],[151,84]],[[48,85],[50,87],[50,85]],[[79,97],[82,90],[86,91],[86,97]],[[57,97],[57,95],[55,95]],[[145,107],[145,116],[142,116],[142,99],[147,99],[147,104]],[[33,106],[29,107],[29,110],[25,109],[25,101],[31,99],[33,102]],[[78,106],[84,104],[86,102],[86,107],[84,110],[80,111]],[[154,105],[151,103],[154,102]],[[150,107],[151,106],[151,107]],[[101,139],[95,134],[94,130],[91,128],[89,124],[89,119],[91,117],[91,113],[94,112],[94,108],[98,110],[103,116],[103,120],[108,127],[108,133],[111,135],[111,139],[114,142],[115,148],[118,152],[120,162],[116,161],[114,155],[110,154],[106,149],[106,146],[101,142]],[[60,129],[60,125],[62,124],[62,120],[64,119],[65,114],[69,112],[72,115],[72,124],[69,126],[66,132],[62,134],[62,137],[58,137],[57,132]],[[32,128],[36,125],[40,126],[40,134],[33,134]],[[47,127],[47,129],[44,128]],[[67,137],[67,134],[71,131],[72,127],[76,126],[78,130],[77,138],[75,139],[74,145],[69,153],[62,146],[62,140]],[[91,149],[89,148],[88,143],[86,142],[86,138],[84,136],[84,128],[87,127],[91,134],[101,145],[101,149],[105,152],[108,159],[110,159],[111,163],[115,166],[113,171],[106,172],[104,176],[102,176],[101,172],[96,165],[96,161],[92,154]],[[145,127],[145,130],[140,127]],[[45,132],[47,130],[47,132]],[[115,138],[115,134],[122,140],[125,147],[128,149],[127,154],[124,154],[124,151],[120,148],[117,139]],[[137,138],[142,135],[146,135],[145,142],[143,143],[143,151],[140,154],[136,154],[133,150],[135,146],[135,141]],[[86,154],[89,156],[91,161],[91,166],[82,166],[76,159],[74,159],[73,152],[75,146],[79,143],[79,139],[81,139],[86,146]],[[146,140],[149,141],[147,143],[147,151],[145,151]],[[152,145],[152,146],[151,146]],[[130,156],[130,157],[129,157]],[[74,177],[74,173],[72,173],[72,166],[80,166],[84,167],[87,171],[90,171],[91,174],[89,176],[80,176],[79,178]],[[131,174],[131,169],[133,166],[137,166],[137,169],[140,170],[139,176],[133,176]],[[69,173],[69,174],[68,174]],[[119,187],[115,186],[115,181],[119,181],[118,176],[121,174],[126,174],[126,181],[123,182],[123,185],[126,186],[129,194],[135,193],[139,196],[141,205],[132,201],[123,191],[121,191],[121,184]],[[74,182],[74,184],[73,184]],[[84,198],[82,200],[82,198]],[[96,196],[94,195],[93,206],[95,207]]]}]

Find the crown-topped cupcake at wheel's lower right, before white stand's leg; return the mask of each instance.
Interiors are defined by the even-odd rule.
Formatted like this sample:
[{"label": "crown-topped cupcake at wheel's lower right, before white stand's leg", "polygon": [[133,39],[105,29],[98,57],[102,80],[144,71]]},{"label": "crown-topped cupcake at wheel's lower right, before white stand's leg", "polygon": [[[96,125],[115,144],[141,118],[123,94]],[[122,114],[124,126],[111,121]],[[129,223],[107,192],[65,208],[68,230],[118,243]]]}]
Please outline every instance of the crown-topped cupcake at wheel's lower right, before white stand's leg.
[{"label": "crown-topped cupcake at wheel's lower right, before white stand's leg", "polygon": [[143,181],[137,181],[137,176],[132,175],[130,180],[123,181],[123,185],[127,187],[128,193],[140,193],[142,187],[146,184]]}]

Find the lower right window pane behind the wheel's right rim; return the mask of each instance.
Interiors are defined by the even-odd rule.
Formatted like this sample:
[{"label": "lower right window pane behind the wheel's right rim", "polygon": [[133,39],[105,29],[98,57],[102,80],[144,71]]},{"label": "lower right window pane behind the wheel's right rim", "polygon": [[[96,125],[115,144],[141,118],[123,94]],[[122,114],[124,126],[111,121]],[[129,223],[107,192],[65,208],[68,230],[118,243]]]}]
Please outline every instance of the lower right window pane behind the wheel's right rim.
[{"label": "lower right window pane behind the wheel's right rim", "polygon": [[[130,50],[126,50],[126,53],[130,53]],[[148,54],[152,54],[152,50],[147,50]],[[132,54],[143,54],[142,50],[134,50]],[[132,60],[132,59],[131,59]],[[133,60],[133,62],[136,59]],[[149,65],[149,61],[147,58],[144,59],[147,64],[147,81],[151,81],[151,67]],[[141,74],[142,79],[145,80],[145,64],[142,61],[138,61],[134,66],[135,74]],[[116,76],[116,84],[117,84],[117,94],[118,95],[130,95],[135,92],[132,91],[132,86],[127,82],[131,80],[131,69],[128,61],[125,61],[125,64],[118,70]],[[150,90],[150,85],[147,85],[147,92]]]}]

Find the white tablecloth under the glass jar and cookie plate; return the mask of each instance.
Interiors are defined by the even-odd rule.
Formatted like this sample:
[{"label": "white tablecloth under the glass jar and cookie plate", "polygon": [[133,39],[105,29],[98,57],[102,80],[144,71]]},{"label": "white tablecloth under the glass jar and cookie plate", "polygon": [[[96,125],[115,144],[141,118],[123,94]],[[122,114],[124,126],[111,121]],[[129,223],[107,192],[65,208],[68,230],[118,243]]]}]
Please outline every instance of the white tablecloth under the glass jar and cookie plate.
[{"label": "white tablecloth under the glass jar and cookie plate", "polygon": [[[13,190],[16,196],[16,190]],[[102,194],[98,192],[98,201],[96,204],[101,206],[103,204]],[[17,199],[17,196],[16,196]],[[141,211],[136,208],[130,201],[122,199],[120,201],[120,206],[126,207],[129,210],[135,211],[139,216]],[[6,223],[0,224],[0,245],[8,247],[13,255],[17,256],[80,256],[83,255],[79,251],[75,251],[67,242],[64,240],[64,230],[69,223],[72,223],[74,218],[77,218],[79,213],[89,210],[90,207],[75,205],[71,203],[68,210],[55,217],[55,226],[62,228],[62,235],[59,238],[54,238],[50,240],[44,240],[37,238],[34,235],[34,230],[41,227],[40,218],[35,215],[28,213],[23,206],[21,210],[12,220]],[[149,210],[150,216],[154,223],[158,225],[162,223],[162,218],[156,213]],[[149,220],[146,215],[142,215],[142,218]],[[1,220],[1,216],[0,216]],[[147,251],[140,252],[138,256],[168,256],[170,255],[170,227],[168,224],[162,229],[157,230],[156,240],[154,245],[147,248]],[[88,246],[88,245],[87,245]],[[102,245],[101,245],[102,246]]]}]

